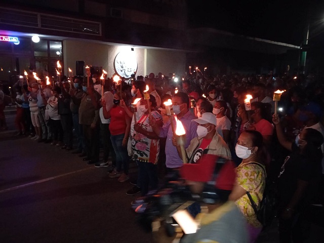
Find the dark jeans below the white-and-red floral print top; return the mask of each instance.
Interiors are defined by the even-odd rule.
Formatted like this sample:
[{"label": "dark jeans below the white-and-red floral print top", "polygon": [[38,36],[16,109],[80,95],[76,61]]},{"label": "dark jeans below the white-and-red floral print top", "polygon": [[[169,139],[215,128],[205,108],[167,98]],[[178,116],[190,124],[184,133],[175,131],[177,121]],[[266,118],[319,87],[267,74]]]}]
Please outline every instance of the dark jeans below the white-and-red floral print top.
[{"label": "dark jeans below the white-and-red floral print top", "polygon": [[[157,165],[152,163],[137,161],[139,176],[140,176],[140,188],[142,196],[145,196],[148,189],[154,190],[157,188]],[[139,187],[139,185],[137,185]]]}]

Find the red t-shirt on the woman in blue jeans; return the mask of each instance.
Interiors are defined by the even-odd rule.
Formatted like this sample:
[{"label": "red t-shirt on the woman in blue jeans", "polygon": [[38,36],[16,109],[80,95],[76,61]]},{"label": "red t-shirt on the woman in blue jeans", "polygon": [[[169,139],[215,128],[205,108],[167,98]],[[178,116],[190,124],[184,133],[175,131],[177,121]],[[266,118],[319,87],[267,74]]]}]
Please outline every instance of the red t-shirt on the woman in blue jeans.
[{"label": "red t-shirt on the woman in blue jeans", "polygon": [[113,106],[110,109],[110,124],[109,131],[111,135],[124,134],[126,131],[127,113],[124,108],[119,105]]}]

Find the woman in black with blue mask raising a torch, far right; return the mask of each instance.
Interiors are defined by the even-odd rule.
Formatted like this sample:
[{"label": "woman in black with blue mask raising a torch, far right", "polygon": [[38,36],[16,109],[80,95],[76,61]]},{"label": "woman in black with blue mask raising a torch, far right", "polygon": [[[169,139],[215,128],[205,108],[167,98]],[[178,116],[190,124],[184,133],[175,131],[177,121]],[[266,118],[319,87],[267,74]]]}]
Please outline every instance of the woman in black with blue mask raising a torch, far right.
[{"label": "woman in black with blue mask raising a torch, far right", "polygon": [[272,121],[279,143],[291,151],[277,176],[280,242],[304,242],[310,228],[307,209],[319,189],[323,136],[307,128],[300,133],[296,144],[285,137],[278,115],[273,115]]}]

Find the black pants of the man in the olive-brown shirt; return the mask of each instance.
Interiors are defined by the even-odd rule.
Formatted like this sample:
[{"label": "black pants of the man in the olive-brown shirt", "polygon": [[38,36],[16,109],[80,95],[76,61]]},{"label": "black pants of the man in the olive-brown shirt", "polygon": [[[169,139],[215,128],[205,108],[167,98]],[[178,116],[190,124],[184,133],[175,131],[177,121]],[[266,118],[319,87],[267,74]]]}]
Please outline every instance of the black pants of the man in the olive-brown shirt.
[{"label": "black pants of the man in the olive-brown shirt", "polygon": [[91,125],[82,125],[85,152],[93,161],[99,161],[99,127],[91,128]]}]

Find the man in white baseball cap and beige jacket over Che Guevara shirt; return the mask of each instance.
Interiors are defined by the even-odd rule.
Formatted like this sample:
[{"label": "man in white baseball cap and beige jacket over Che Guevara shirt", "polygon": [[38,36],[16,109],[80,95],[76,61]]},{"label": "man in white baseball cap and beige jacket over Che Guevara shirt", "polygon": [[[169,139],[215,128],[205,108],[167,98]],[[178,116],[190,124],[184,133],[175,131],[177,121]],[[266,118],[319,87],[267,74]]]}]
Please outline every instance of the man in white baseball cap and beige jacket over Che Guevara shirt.
[{"label": "man in white baseball cap and beige jacket over Che Guevara shirt", "polygon": [[[189,164],[197,163],[203,154],[213,154],[224,158],[231,158],[231,153],[227,144],[216,131],[216,116],[213,113],[205,112],[198,119],[193,119],[192,122],[198,124],[198,137],[193,138],[186,149],[187,161]],[[178,146],[175,137],[172,138],[172,143],[177,147],[180,158],[183,159],[180,146]]]}]

